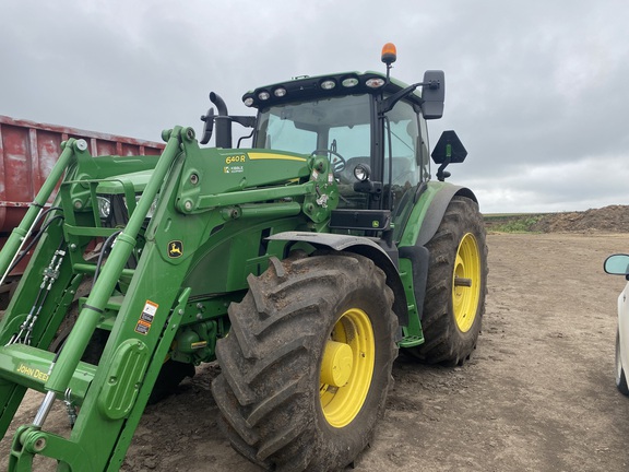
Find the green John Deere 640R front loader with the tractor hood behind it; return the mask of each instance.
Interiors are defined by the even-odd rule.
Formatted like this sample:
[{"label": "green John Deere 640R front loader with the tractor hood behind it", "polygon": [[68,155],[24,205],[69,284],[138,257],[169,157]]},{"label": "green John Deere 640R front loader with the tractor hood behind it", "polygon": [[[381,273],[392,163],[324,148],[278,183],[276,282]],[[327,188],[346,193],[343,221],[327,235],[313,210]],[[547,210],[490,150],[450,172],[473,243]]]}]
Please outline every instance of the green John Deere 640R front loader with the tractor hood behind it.
[{"label": "green John Deere 640R front loader with the tractor hood behind it", "polygon": [[[229,329],[226,307],[244,296],[248,274],[284,257],[285,241],[264,238],[324,229],[337,202],[324,157],[201,150],[180,127],[165,140],[158,158],[124,162],[70,142],[38,197],[46,201],[66,173],[52,223],[0,324],[3,433],[27,388],[45,393],[14,435],[10,471],[32,470],[37,455],[59,471],[118,470],[164,362],[213,361]],[[100,214],[107,196],[126,202],[123,227]],[[14,252],[37,213],[35,204],[16,229]],[[87,256],[95,243],[97,261]],[[12,259],[0,255],[4,268]],[[209,276],[217,264],[225,276]],[[76,299],[88,281],[88,296]],[[46,351],[72,306],[73,328],[57,353]],[[99,361],[84,361],[96,331],[107,339]],[[69,437],[45,430],[59,400],[75,416]]]}]

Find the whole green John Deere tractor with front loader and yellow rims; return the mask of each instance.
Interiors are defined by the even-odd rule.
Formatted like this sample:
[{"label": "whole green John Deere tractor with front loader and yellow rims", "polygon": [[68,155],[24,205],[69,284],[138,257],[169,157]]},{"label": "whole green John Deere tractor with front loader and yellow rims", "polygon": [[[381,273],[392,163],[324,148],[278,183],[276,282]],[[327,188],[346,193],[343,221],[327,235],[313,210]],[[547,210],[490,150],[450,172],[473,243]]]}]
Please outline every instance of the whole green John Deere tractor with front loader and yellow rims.
[{"label": "whole green John Deere tractor with front loader and yellow rims", "polygon": [[[442,115],[443,72],[393,80],[391,46],[385,73],[247,93],[256,117],[211,94],[201,143],[214,134],[215,148],[181,127],[158,157],[62,144],[0,253],[8,273],[34,248],[0,324],[2,433],[27,389],[45,393],[13,436],[10,471],[37,457],[118,470],[145,405],[210,362],[238,452],[271,470],[337,470],[371,440],[399,350],[468,358],[485,229],[474,193],[444,181],[466,151],[446,131],[430,179],[426,120]],[[252,128],[251,149],[233,146],[234,122]],[[66,435],[45,428],[56,404]]]}]

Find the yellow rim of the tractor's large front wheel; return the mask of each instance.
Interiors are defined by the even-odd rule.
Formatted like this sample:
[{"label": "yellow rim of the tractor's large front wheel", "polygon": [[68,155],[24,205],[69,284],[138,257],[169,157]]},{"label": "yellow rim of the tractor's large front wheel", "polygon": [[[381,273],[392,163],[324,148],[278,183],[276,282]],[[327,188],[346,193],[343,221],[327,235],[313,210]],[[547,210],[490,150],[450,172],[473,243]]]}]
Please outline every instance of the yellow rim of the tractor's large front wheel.
[{"label": "yellow rim of the tractor's large front wheel", "polygon": [[373,328],[365,311],[351,308],[334,324],[321,361],[323,415],[342,428],[356,417],[371,385],[376,362]]}]

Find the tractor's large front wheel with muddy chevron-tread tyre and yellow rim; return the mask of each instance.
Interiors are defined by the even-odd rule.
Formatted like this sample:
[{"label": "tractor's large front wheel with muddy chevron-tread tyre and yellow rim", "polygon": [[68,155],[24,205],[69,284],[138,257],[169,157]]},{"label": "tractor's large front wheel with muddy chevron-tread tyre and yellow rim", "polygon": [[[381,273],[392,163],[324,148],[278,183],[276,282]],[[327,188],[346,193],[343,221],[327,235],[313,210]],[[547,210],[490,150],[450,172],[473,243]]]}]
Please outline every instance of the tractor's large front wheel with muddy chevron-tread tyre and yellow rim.
[{"label": "tractor's large front wheel with muddy chevron-tread tyre and yellow rim", "polygon": [[271,260],[232,304],[212,391],[222,428],[277,471],[349,464],[384,411],[397,319],[384,273],[352,253]]}]

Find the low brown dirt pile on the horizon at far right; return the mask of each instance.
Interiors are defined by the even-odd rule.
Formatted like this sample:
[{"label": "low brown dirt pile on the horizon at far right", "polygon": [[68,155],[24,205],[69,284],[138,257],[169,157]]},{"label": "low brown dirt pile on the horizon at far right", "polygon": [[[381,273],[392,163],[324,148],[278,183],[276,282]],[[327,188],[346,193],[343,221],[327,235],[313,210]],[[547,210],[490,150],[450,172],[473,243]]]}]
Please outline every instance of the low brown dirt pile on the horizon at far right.
[{"label": "low brown dirt pile on the horizon at far right", "polygon": [[531,225],[541,233],[629,233],[629,206],[610,205],[582,212],[542,215]]}]

